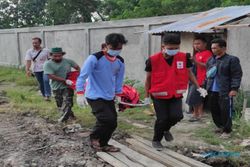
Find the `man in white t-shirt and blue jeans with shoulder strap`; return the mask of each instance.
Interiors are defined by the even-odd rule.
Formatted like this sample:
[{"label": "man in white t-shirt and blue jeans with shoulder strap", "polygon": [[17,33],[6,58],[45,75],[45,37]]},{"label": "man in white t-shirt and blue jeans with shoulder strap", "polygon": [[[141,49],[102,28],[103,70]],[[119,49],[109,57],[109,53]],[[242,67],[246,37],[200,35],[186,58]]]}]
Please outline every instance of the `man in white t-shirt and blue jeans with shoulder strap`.
[{"label": "man in white t-shirt and blue jeans with shoulder strap", "polygon": [[33,72],[37,81],[39,82],[40,91],[46,101],[50,100],[51,88],[49,85],[49,78],[43,74],[43,65],[49,58],[49,50],[41,47],[41,38],[32,38],[33,48],[26,52],[26,75],[30,77],[32,72],[30,70],[33,64]]}]

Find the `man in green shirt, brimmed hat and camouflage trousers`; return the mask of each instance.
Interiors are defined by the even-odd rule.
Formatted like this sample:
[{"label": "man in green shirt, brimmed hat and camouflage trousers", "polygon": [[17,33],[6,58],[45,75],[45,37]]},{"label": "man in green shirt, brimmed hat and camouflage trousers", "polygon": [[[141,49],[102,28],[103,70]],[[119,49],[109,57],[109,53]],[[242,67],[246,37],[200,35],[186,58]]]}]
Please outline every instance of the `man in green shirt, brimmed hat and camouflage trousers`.
[{"label": "man in green shirt, brimmed hat and camouflage trousers", "polygon": [[70,59],[63,58],[65,52],[62,48],[52,48],[51,60],[44,64],[44,73],[51,79],[51,88],[55,95],[55,100],[59,111],[62,112],[59,122],[67,121],[69,118],[75,118],[71,108],[73,106],[74,90],[69,88],[73,82],[67,79],[71,68],[80,71],[80,67]]}]

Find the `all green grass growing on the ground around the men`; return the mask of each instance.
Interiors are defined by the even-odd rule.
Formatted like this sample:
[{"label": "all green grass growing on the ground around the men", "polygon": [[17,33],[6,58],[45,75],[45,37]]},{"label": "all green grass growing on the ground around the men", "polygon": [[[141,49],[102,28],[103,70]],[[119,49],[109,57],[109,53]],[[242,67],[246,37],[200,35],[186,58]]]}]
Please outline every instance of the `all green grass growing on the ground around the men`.
[{"label": "all green grass growing on the ground around the men", "polygon": [[[53,121],[56,121],[59,118],[55,101],[44,101],[41,95],[38,94],[37,83],[35,79],[27,78],[22,69],[18,70],[0,67],[0,84],[5,85],[4,91],[6,92],[7,97],[10,98],[11,104],[15,111],[34,112],[43,118]],[[141,94],[141,99],[143,99],[143,86],[138,83],[136,84],[137,90]],[[241,100],[238,100],[237,103],[239,104],[240,108]],[[128,119],[132,122],[139,122],[143,124],[146,123],[151,125],[154,121],[154,117],[143,113],[145,109],[146,107],[131,108],[127,109],[125,112],[119,113],[118,115],[120,119],[118,123],[118,130],[131,134],[139,134],[144,137],[152,135],[152,130],[140,129],[124,121],[124,119]],[[80,123],[83,127],[91,128],[95,124],[95,118],[92,115],[90,108],[81,109],[77,105],[74,105],[73,111],[77,117],[76,122]],[[196,138],[201,138],[205,142],[212,145],[223,145],[226,149],[241,151],[243,148],[232,144],[232,142],[236,139],[249,138],[250,125],[236,117],[233,127],[234,131],[232,133],[232,138],[229,140],[222,140],[216,134],[214,134],[212,131],[213,125],[198,129],[195,131],[194,136]]]}]

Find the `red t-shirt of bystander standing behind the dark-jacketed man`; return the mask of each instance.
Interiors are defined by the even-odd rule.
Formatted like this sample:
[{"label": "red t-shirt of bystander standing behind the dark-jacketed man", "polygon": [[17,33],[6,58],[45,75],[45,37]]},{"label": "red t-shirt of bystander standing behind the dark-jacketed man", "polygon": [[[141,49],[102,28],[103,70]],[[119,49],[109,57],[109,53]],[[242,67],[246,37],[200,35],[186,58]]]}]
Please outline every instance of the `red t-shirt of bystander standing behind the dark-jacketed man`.
[{"label": "red t-shirt of bystander standing behind the dark-jacketed man", "polygon": [[[195,59],[197,62],[200,63],[207,63],[208,59],[212,56],[212,52],[209,50],[205,50],[202,52],[198,52],[195,54]],[[197,81],[199,85],[201,86],[206,78],[206,67],[202,67],[197,65]]]}]

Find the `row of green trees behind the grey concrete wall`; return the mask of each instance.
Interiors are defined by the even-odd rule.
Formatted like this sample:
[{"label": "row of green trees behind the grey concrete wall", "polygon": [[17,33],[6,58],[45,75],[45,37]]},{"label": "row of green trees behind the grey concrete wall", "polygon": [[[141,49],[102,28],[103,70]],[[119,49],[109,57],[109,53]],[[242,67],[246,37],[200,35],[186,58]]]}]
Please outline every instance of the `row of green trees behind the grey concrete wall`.
[{"label": "row of green trees behind the grey concrete wall", "polygon": [[[250,0],[0,0],[0,29],[201,12]],[[94,19],[94,20],[93,20]]]}]

